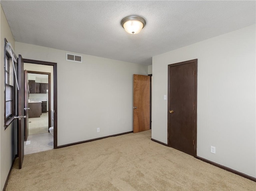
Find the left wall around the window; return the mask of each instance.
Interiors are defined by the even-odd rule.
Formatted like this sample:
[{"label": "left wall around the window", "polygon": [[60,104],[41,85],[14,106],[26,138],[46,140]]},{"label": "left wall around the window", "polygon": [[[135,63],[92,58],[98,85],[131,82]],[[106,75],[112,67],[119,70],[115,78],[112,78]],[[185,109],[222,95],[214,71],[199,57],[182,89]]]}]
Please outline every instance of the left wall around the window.
[{"label": "left wall around the window", "polygon": [[15,41],[12,32],[2,10],[0,8],[0,190],[3,190],[4,183],[12,165],[14,157],[14,122],[4,130],[4,38],[15,48]]}]

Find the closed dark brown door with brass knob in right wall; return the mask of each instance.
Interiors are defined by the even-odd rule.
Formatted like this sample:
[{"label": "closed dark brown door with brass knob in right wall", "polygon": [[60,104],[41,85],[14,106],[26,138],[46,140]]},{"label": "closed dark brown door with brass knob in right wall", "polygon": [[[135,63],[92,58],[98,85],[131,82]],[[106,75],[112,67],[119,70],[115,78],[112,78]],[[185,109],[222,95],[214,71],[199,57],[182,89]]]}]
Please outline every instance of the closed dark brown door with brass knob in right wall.
[{"label": "closed dark brown door with brass knob in right wall", "polygon": [[197,59],[168,65],[168,146],[196,157]]}]

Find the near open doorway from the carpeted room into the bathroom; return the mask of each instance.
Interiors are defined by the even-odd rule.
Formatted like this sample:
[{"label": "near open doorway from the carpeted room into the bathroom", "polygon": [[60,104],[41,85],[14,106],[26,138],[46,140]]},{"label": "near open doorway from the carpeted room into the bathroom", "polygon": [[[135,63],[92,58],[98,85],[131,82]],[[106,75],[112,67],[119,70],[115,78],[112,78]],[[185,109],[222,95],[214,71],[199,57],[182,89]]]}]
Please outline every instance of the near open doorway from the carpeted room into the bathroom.
[{"label": "near open doorway from the carpeted room into the bathroom", "polygon": [[[24,129],[24,154],[54,148],[54,66],[24,59],[24,86],[26,118]],[[47,62],[44,62],[47,64]],[[26,94],[27,87],[27,94]],[[27,124],[26,124],[27,123]],[[50,128],[51,130],[52,128]],[[50,133],[51,132],[51,133]]]}]

